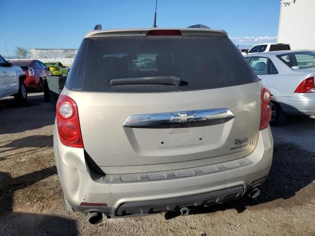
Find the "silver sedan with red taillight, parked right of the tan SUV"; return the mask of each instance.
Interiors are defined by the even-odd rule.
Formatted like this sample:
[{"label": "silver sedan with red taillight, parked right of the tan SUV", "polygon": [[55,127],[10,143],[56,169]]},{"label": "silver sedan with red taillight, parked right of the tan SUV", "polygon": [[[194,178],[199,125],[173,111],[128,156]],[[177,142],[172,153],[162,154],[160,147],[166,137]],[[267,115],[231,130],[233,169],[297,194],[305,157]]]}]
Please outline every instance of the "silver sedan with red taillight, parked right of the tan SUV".
[{"label": "silver sedan with red taillight, parked right of the tan SUV", "polygon": [[245,58],[272,94],[272,125],[283,124],[286,115],[315,115],[314,52],[275,51]]}]

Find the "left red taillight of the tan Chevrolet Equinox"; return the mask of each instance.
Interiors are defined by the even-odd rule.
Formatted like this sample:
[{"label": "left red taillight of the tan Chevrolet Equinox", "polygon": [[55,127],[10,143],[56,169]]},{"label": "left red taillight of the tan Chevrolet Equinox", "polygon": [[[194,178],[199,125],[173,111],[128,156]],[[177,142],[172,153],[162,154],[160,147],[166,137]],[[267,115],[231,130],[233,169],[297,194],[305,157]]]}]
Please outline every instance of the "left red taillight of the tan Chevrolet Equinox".
[{"label": "left red taillight of the tan Chevrolet Equinox", "polygon": [[58,134],[63,145],[83,148],[78,107],[66,95],[60,95],[56,105]]}]

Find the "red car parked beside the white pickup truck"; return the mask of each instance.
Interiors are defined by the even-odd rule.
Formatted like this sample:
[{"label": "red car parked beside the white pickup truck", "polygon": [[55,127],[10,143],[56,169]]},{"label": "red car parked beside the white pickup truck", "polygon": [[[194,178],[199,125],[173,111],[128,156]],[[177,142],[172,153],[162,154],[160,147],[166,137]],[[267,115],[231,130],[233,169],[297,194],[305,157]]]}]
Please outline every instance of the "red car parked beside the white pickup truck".
[{"label": "red car parked beside the white pickup truck", "polygon": [[27,88],[40,89],[44,88],[44,80],[46,75],[52,75],[49,68],[39,60],[11,60],[13,65],[20,66],[26,74],[24,81]]}]

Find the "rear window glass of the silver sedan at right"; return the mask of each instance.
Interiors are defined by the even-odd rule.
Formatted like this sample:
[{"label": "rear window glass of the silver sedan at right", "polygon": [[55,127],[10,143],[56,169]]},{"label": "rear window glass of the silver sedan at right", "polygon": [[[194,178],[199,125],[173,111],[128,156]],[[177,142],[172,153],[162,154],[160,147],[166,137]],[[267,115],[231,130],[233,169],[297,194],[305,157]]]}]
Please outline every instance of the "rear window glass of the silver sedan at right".
[{"label": "rear window glass of the silver sedan at right", "polygon": [[277,57],[293,70],[315,67],[314,52],[287,53]]}]

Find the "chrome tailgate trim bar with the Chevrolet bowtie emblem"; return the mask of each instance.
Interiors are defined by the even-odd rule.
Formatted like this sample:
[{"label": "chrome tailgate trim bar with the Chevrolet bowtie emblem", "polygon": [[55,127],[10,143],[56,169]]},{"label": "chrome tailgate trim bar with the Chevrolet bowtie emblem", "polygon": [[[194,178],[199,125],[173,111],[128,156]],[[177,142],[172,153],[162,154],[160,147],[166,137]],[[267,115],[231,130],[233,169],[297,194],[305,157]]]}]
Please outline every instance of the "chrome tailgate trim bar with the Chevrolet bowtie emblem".
[{"label": "chrome tailgate trim bar with the Chevrolet bowtie emblem", "polygon": [[225,123],[234,118],[228,108],[139,114],[129,116],[124,127],[130,128],[185,128]]}]

